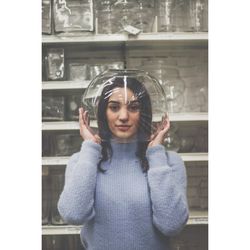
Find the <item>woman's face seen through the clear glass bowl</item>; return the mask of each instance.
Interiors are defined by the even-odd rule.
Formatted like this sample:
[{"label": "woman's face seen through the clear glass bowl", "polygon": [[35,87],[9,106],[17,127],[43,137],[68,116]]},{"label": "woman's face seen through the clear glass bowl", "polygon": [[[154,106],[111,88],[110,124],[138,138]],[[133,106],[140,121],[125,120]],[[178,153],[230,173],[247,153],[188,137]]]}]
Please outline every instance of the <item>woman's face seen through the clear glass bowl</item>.
[{"label": "woman's face seen through the clear glass bowl", "polygon": [[108,100],[106,116],[114,137],[131,139],[138,130],[140,103],[130,89],[115,88]]}]

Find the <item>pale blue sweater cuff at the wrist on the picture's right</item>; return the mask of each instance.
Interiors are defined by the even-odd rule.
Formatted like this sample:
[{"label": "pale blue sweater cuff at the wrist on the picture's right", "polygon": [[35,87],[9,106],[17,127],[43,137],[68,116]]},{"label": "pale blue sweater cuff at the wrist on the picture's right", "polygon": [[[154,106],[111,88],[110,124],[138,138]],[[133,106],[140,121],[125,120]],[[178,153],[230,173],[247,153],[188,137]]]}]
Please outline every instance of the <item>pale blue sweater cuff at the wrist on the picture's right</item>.
[{"label": "pale blue sweater cuff at the wrist on the picture's right", "polygon": [[146,157],[150,168],[161,167],[167,165],[167,155],[163,145],[148,147]]}]

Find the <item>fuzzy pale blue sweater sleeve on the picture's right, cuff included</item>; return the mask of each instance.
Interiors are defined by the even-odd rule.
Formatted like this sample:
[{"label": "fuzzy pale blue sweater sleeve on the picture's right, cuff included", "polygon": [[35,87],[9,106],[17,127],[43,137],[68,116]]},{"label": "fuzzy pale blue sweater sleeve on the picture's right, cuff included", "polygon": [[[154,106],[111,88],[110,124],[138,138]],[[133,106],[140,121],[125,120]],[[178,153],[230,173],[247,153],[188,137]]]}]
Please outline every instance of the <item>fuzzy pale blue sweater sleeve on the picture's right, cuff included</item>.
[{"label": "fuzzy pale blue sweater sleeve on the picture's right, cuff included", "polygon": [[187,177],[184,163],[175,152],[162,145],[147,149],[148,184],[154,225],[165,235],[178,233],[189,216]]}]

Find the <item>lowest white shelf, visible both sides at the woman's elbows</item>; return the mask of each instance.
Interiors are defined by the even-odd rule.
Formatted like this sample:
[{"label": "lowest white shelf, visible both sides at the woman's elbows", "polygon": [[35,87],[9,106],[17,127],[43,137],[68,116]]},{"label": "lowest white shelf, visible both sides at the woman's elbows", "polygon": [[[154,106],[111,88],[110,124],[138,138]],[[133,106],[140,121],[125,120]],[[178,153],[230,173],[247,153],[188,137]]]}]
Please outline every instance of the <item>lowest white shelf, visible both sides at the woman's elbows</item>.
[{"label": "lowest white shelf, visible both sides at the woman's elbows", "polygon": [[[207,225],[208,211],[190,211],[190,216],[187,225]],[[82,226],[64,225],[42,226],[43,235],[63,235],[63,234],[79,234]]]}]

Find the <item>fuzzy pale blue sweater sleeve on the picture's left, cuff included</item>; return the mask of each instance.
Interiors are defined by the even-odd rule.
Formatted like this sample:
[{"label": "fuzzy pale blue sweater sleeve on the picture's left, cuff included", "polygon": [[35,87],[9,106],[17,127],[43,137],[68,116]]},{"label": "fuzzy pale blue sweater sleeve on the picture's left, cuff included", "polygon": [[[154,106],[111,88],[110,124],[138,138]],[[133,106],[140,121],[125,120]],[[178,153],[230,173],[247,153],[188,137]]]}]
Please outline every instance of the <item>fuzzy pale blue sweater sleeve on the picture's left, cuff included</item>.
[{"label": "fuzzy pale blue sweater sleeve on the picture's left, cuff included", "polygon": [[69,159],[58,201],[58,211],[65,222],[80,225],[95,216],[94,193],[100,159],[101,146],[89,140]]}]

